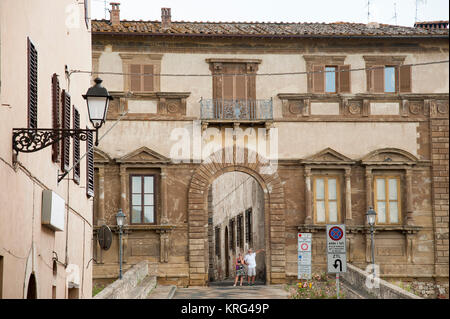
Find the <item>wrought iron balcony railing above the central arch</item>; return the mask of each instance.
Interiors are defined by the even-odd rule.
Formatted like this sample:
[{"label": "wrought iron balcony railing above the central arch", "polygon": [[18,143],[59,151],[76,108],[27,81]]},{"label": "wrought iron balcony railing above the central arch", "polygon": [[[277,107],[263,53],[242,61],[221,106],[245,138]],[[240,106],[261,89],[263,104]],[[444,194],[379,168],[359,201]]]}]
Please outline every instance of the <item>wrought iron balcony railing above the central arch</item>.
[{"label": "wrought iron balcony railing above the central arch", "polygon": [[272,120],[272,99],[201,99],[200,116],[202,120]]}]

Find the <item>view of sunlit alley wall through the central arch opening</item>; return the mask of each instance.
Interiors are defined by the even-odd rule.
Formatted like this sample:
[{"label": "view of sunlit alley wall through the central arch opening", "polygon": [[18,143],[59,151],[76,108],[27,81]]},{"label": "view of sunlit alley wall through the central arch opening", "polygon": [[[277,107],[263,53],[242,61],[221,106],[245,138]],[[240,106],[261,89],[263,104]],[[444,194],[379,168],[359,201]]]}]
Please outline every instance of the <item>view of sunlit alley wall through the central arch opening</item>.
[{"label": "view of sunlit alley wall through the central arch opening", "polygon": [[[232,171],[208,190],[209,281],[234,281],[235,261],[249,248],[265,249],[264,192],[249,174]],[[266,281],[265,253],[256,255],[256,280]],[[245,278],[245,281],[247,278]]]}]

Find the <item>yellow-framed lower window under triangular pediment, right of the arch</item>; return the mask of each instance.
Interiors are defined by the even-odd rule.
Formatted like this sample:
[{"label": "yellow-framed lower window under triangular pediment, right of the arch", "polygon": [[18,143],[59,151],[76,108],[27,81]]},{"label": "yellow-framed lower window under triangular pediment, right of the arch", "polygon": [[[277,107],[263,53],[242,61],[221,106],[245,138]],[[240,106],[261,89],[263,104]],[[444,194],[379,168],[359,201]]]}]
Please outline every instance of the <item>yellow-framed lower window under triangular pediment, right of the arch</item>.
[{"label": "yellow-framed lower window under triangular pediment, right of the arch", "polygon": [[318,224],[337,223],[340,216],[337,177],[314,177],[314,218]]}]

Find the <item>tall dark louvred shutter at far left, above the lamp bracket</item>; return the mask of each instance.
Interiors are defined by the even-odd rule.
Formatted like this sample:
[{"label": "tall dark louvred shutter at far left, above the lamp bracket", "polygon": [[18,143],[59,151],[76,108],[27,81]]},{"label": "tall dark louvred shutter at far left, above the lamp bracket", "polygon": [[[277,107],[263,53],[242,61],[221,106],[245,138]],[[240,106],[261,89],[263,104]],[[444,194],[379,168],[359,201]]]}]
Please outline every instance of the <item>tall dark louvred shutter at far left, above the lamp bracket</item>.
[{"label": "tall dark louvred shutter at far left, above the lamp bracket", "polygon": [[28,127],[37,128],[37,51],[28,38]]}]

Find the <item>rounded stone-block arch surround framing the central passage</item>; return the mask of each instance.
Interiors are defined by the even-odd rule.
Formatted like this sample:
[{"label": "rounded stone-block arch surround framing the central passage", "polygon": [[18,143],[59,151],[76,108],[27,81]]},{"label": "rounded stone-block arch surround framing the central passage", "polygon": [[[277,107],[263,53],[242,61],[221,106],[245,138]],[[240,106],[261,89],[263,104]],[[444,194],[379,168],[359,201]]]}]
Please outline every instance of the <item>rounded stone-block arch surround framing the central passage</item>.
[{"label": "rounded stone-block arch surround framing the central passage", "polygon": [[[242,160],[236,160],[237,154]],[[263,189],[266,281],[285,282],[284,189],[278,172],[269,172],[268,164],[253,150],[230,147],[213,153],[194,171],[188,192],[189,285],[208,281],[208,188],[217,177],[233,171],[247,173]]]}]

